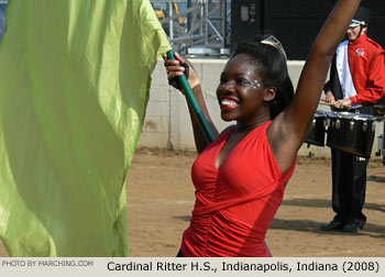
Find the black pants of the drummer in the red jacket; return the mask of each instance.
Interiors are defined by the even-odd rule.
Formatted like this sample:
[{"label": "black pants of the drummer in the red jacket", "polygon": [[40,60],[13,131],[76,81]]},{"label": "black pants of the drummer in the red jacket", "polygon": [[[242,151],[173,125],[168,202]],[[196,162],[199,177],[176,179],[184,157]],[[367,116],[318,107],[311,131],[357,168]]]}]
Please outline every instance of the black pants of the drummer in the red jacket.
[{"label": "black pants of the drummer in the red jacket", "polygon": [[337,148],[331,148],[332,207],[334,219],[363,226],[366,217],[362,213],[366,191],[369,157],[362,158]]}]

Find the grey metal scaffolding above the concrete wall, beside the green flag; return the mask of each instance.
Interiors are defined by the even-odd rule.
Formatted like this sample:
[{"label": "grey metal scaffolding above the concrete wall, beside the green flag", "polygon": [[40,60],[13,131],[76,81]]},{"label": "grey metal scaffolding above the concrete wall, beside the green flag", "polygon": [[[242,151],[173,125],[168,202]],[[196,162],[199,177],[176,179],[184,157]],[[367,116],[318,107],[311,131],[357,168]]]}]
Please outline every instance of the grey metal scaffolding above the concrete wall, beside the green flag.
[{"label": "grey metal scaffolding above the concrete wall, beside the green flag", "polygon": [[151,0],[173,48],[220,52],[229,46],[230,0]]}]

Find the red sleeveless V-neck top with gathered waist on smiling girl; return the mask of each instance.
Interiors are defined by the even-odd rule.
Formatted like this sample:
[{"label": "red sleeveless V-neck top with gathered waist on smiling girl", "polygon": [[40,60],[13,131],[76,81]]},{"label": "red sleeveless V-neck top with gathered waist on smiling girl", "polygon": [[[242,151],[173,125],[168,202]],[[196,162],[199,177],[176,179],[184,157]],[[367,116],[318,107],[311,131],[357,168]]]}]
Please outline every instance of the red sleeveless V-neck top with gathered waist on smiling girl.
[{"label": "red sleeveless V-neck top with gathered waist on smiling girl", "polygon": [[266,130],[251,131],[219,169],[217,156],[234,130],[222,134],[195,160],[196,202],[184,232],[185,257],[268,257],[266,231],[280,206],[293,167],[284,175],[273,156]]}]

